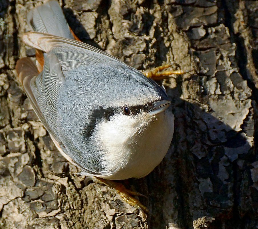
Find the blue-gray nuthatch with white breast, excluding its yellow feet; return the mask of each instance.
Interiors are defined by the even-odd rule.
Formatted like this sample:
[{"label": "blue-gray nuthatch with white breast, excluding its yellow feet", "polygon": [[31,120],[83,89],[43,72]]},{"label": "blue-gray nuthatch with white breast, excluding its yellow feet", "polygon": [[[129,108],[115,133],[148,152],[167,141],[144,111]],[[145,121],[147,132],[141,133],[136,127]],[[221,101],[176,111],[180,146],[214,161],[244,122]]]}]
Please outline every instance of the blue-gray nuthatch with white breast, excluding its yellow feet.
[{"label": "blue-gray nuthatch with white breast, excluding its yellow feet", "polygon": [[38,50],[38,68],[25,57],[16,70],[62,155],[87,176],[121,180],[149,174],[166,155],[174,131],[165,89],[75,40],[56,1],[29,11],[28,24],[35,32],[25,33],[23,41]]}]

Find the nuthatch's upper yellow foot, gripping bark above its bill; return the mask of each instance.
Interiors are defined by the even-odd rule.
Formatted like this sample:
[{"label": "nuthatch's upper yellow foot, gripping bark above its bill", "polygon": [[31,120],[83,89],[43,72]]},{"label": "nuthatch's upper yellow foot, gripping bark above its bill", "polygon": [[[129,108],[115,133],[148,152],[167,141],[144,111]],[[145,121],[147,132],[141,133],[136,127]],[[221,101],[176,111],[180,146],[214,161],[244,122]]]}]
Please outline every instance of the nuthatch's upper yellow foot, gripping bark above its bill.
[{"label": "nuthatch's upper yellow foot, gripping bark above its bill", "polygon": [[178,65],[176,63],[172,63],[172,64],[164,64],[159,67],[155,67],[150,70],[143,71],[142,73],[147,78],[152,78],[154,80],[161,80],[161,79],[167,79],[170,75],[173,75],[173,74],[182,75],[182,74],[185,74],[185,73],[188,73],[188,72],[194,70],[194,69],[191,69],[190,71],[182,71],[181,69],[180,70],[164,70],[169,67],[172,67],[173,65],[180,69],[180,65]]}]

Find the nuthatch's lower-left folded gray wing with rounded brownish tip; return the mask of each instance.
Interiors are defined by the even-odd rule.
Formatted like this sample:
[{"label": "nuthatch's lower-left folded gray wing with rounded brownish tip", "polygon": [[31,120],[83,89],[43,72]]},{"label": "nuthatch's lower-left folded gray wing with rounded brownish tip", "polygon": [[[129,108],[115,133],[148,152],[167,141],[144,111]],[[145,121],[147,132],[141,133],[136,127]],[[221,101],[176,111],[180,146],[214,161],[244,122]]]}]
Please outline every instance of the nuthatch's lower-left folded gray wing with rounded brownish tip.
[{"label": "nuthatch's lower-left folded gray wing with rounded brownish tip", "polygon": [[[95,168],[98,165],[96,155],[83,155],[80,150],[74,147],[74,142],[72,142],[70,136],[60,130],[60,125],[58,125],[59,111],[57,100],[59,89],[64,86],[65,77],[57,56],[54,54],[47,55],[44,69],[41,73],[37,71],[36,65],[28,57],[17,61],[16,71],[35,113],[49,132],[61,154],[68,161],[76,164],[82,170],[81,174],[99,175],[100,172]],[[60,145],[60,142],[68,144],[69,150],[65,146]],[[84,163],[78,163],[78,161]]]}]

